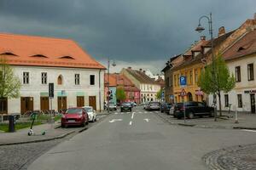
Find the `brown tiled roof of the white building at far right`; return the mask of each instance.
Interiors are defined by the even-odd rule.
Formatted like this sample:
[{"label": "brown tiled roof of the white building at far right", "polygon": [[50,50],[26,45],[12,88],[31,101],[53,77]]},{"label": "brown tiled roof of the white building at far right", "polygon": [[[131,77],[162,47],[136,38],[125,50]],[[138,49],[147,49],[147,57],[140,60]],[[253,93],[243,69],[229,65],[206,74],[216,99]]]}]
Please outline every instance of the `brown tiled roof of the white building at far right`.
[{"label": "brown tiled roof of the white building at far right", "polygon": [[225,60],[237,59],[249,54],[256,53],[256,30],[247,32],[244,37],[241,37],[236,43],[233,44],[223,56]]}]

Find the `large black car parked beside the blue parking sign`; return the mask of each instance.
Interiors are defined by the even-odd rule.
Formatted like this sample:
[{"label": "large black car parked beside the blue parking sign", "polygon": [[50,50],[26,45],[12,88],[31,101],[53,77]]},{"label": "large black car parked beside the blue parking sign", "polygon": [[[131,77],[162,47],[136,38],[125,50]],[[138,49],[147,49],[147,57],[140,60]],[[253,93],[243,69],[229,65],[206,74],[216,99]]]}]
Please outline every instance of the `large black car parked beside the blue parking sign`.
[{"label": "large black car parked beside the blue parking sign", "polygon": [[196,101],[177,103],[174,105],[173,116],[182,118],[184,117],[184,111],[186,117],[193,119],[195,116],[213,116],[214,108]]}]

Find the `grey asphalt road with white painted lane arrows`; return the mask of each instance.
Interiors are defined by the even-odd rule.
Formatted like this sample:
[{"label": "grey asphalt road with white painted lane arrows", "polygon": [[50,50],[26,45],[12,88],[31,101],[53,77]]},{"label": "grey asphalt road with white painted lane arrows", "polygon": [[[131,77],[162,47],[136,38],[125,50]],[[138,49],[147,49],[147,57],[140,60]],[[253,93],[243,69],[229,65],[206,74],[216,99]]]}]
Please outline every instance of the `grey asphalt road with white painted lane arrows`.
[{"label": "grey asphalt road with white painted lane arrows", "polygon": [[202,170],[207,167],[201,157],[208,152],[253,143],[254,132],[174,126],[137,107],[58,144],[28,169]]}]

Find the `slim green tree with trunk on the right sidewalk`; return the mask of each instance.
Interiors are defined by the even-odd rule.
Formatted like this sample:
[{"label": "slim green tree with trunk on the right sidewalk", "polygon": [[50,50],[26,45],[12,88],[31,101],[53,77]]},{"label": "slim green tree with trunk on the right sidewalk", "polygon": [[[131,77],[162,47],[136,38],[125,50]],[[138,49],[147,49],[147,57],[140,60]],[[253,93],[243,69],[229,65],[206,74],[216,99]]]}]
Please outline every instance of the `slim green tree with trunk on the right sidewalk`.
[{"label": "slim green tree with trunk on the right sidewalk", "polygon": [[201,87],[201,90],[206,94],[218,95],[219,114],[222,116],[220,92],[224,91],[224,93],[228,93],[231,89],[235,88],[236,79],[233,74],[230,75],[229,68],[221,54],[218,54],[214,64],[215,78],[212,79],[212,64],[207,65],[205,71],[203,71],[201,77],[199,77],[198,86]]}]

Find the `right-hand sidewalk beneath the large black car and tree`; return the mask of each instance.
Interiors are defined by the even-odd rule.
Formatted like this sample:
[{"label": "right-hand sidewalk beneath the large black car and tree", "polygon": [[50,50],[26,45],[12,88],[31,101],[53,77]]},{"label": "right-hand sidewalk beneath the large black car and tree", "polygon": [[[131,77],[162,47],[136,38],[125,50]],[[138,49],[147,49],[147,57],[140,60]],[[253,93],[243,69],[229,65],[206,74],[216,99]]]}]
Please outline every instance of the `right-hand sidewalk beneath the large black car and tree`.
[{"label": "right-hand sidewalk beneath the large black car and tree", "polygon": [[[161,116],[164,116],[163,113]],[[182,126],[190,126],[190,127],[205,127],[205,128],[244,128],[244,129],[256,129],[256,114],[250,113],[238,113],[238,123],[236,123],[235,115],[232,114],[233,117],[228,118],[227,113],[223,113],[223,116],[217,119],[217,122],[214,122],[213,117],[199,118],[195,117],[195,119],[186,119],[185,123],[183,119],[173,118],[172,116],[164,116],[167,122],[171,124],[177,124]]]}]

